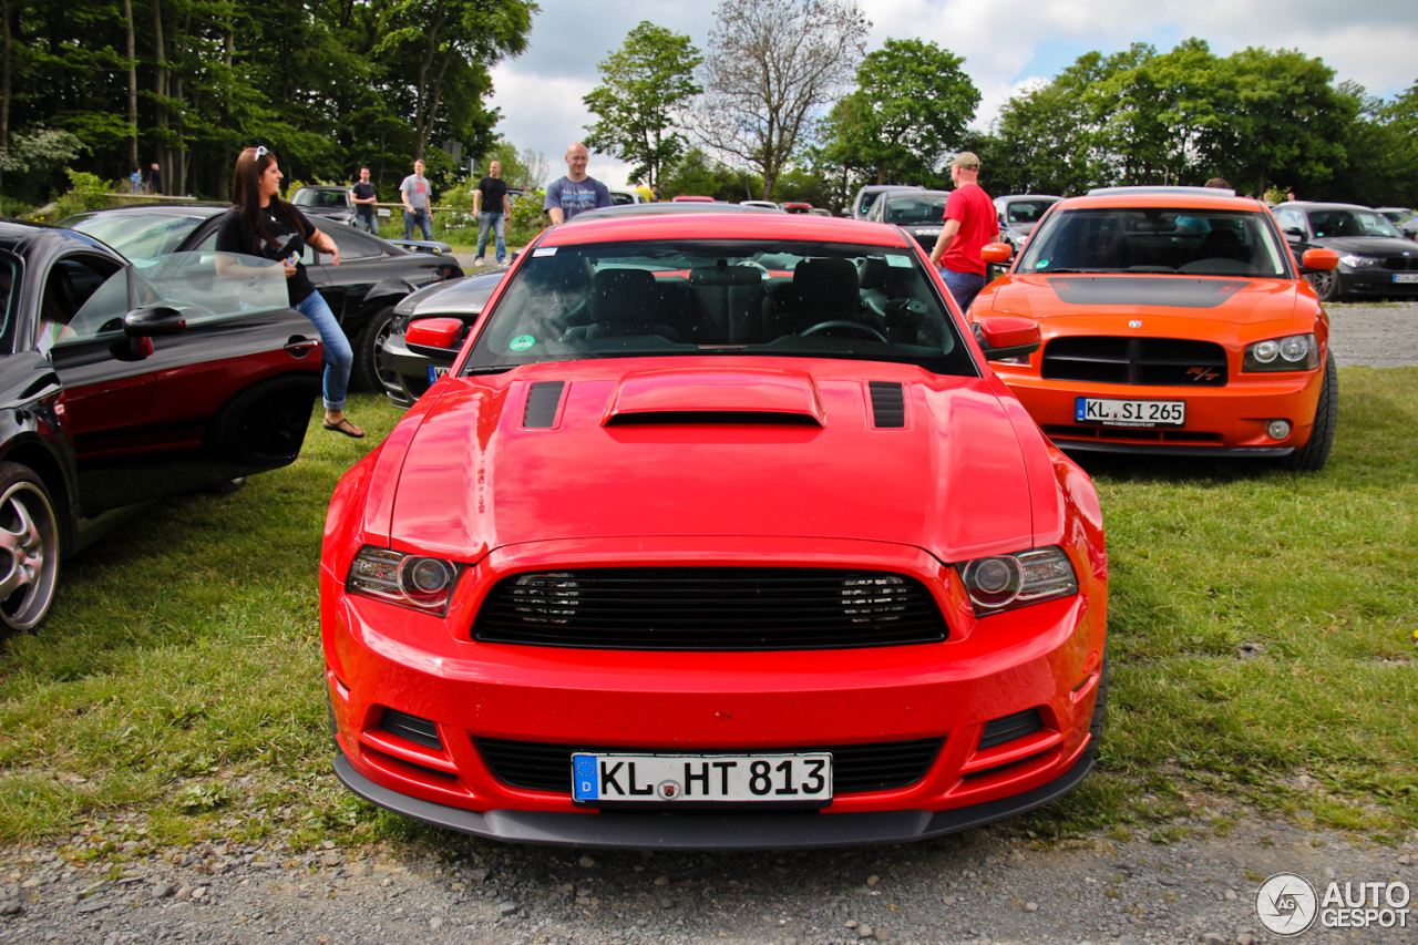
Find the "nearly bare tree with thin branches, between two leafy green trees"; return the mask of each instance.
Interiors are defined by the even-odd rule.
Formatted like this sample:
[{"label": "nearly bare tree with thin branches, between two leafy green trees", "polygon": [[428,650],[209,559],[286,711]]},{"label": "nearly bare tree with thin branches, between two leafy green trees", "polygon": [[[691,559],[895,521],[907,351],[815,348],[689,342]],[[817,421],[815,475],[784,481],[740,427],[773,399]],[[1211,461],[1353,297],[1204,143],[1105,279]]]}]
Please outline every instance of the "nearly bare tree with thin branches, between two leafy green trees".
[{"label": "nearly bare tree with thin branches, between two leafy green trees", "polygon": [[851,79],[871,24],[851,0],[720,0],[699,135],[763,175],[763,199]]}]

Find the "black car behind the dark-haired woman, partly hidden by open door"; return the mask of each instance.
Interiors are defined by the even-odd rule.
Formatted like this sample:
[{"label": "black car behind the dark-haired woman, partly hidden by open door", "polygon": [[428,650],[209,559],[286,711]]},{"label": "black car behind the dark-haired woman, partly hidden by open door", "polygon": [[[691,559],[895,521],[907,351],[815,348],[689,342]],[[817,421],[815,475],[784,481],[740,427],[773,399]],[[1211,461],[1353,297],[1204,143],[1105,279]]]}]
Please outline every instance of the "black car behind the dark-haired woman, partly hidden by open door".
[{"label": "black car behind the dark-haired woman, partly hidden by open door", "polygon": [[[62,226],[104,240],[135,262],[155,262],[167,253],[214,250],[225,209],[225,204],[191,203],[112,207],[81,213]],[[329,265],[330,257],[309,244],[302,261],[354,348],[350,386],[383,390],[380,352],[394,305],[424,285],[462,275],[462,267],[451,255],[410,253],[325,217],[311,217],[311,223],[340,247],[339,267]]]}]

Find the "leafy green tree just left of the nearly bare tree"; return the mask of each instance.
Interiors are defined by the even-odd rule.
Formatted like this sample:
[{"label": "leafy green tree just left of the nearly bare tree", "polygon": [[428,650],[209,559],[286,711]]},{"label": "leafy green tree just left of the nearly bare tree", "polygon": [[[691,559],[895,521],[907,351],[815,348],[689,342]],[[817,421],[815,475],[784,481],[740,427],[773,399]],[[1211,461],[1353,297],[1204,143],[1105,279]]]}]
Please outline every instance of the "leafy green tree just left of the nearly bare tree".
[{"label": "leafy green tree just left of the nearly bare tree", "polygon": [[658,183],[662,169],[685,152],[685,136],[675,129],[685,104],[703,92],[693,81],[700,61],[688,35],[641,21],[620,51],[597,65],[603,82],[581,99],[600,115],[586,143],[634,165],[632,176]]}]

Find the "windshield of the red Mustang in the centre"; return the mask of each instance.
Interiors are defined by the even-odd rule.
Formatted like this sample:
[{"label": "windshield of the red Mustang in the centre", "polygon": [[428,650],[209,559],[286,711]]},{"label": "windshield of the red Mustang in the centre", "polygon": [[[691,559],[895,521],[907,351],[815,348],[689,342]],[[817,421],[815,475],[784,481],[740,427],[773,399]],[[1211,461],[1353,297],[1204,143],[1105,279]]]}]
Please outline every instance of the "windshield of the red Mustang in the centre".
[{"label": "windshield of the red Mustang in the centre", "polygon": [[915,253],[759,240],[533,250],[464,370],[718,353],[898,360],[976,373]]}]

